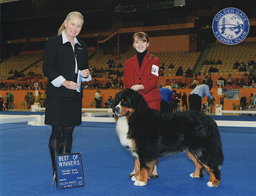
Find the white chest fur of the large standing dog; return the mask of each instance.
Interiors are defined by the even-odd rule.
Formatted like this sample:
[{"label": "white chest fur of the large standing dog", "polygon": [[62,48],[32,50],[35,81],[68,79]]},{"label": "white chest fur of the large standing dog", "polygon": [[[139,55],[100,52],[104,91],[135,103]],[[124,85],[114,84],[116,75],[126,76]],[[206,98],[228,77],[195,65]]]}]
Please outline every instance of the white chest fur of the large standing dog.
[{"label": "white chest fur of the large standing dog", "polygon": [[126,118],[119,118],[116,122],[116,134],[123,146],[129,146],[131,149],[131,140],[127,138],[129,132],[129,126]]}]

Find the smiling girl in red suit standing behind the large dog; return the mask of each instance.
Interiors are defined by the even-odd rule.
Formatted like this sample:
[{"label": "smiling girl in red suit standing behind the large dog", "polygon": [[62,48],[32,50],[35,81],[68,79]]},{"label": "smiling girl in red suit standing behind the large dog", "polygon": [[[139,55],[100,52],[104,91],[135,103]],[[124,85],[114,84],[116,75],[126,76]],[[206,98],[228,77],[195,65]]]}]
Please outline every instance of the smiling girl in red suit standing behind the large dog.
[{"label": "smiling girl in red suit standing behind the large dog", "polygon": [[[146,100],[149,108],[160,111],[162,96],[157,88],[160,59],[147,52],[148,46],[149,37],[145,32],[137,32],[133,35],[133,47],[137,54],[124,62],[124,85],[125,88],[138,91]],[[130,177],[134,175],[135,169]],[[151,177],[158,177],[156,166]]]}]

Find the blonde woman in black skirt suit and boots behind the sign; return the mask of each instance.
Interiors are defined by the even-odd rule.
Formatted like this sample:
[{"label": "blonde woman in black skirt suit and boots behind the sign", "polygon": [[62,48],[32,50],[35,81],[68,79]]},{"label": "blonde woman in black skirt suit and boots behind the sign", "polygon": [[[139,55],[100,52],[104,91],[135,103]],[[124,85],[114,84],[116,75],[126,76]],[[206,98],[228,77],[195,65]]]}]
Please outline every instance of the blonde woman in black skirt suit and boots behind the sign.
[{"label": "blonde woman in black skirt suit and boots behind the sign", "polygon": [[45,45],[43,72],[49,79],[45,94],[45,124],[52,126],[49,149],[55,179],[55,154],[71,152],[73,130],[82,123],[83,90],[78,83],[92,79],[89,72],[87,46],[76,36],[82,29],[83,15],[70,12],[58,31]]}]

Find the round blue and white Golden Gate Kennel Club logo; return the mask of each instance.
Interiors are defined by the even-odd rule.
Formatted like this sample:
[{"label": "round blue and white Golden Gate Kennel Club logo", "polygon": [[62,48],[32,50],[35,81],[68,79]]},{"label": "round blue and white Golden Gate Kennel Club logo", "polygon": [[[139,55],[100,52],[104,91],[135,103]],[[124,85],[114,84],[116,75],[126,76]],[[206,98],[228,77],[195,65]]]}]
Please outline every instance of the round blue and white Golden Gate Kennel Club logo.
[{"label": "round blue and white Golden Gate Kennel Club logo", "polygon": [[249,20],[236,8],[221,10],[214,18],[212,29],[215,37],[223,44],[234,45],[242,42],[249,32]]}]

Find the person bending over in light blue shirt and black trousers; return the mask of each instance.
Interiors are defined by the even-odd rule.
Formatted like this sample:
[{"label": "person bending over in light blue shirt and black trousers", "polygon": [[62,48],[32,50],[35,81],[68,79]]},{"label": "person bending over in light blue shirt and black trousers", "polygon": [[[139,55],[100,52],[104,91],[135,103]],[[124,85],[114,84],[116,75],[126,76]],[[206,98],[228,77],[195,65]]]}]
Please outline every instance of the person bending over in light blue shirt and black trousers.
[{"label": "person bending over in light blue shirt and black trousers", "polygon": [[203,98],[207,96],[210,99],[213,99],[213,96],[210,94],[210,90],[211,87],[208,83],[195,87],[188,96],[189,109],[201,111]]}]

